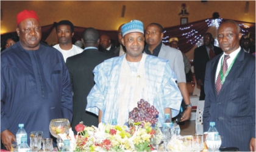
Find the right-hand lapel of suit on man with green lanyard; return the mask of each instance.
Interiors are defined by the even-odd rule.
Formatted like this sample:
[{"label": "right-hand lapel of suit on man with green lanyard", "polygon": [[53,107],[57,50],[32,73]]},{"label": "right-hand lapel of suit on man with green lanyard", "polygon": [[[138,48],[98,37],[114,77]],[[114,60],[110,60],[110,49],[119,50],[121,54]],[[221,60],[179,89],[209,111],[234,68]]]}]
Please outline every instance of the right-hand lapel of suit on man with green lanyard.
[{"label": "right-hand lapel of suit on man with green lanyard", "polygon": [[244,51],[241,49],[240,52],[238,53],[238,56],[236,57],[236,60],[233,64],[233,66],[230,69],[229,74],[226,77],[226,80],[224,81],[221,91],[219,91],[219,94],[223,92],[222,90],[225,90],[226,87],[229,86],[230,82],[233,80],[233,77],[235,77],[236,72],[239,70],[240,66],[243,64],[244,60]]}]

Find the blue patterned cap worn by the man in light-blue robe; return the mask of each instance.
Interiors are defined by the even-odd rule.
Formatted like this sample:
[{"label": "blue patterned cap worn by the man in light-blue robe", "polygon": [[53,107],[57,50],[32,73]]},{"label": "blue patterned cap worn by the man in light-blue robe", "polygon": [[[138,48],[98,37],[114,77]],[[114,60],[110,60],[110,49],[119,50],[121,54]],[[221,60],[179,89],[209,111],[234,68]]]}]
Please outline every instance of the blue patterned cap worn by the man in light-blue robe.
[{"label": "blue patterned cap worn by the man in light-blue robe", "polygon": [[122,35],[126,35],[127,33],[140,32],[144,34],[144,26],[143,22],[133,19],[130,22],[127,22],[122,26]]}]

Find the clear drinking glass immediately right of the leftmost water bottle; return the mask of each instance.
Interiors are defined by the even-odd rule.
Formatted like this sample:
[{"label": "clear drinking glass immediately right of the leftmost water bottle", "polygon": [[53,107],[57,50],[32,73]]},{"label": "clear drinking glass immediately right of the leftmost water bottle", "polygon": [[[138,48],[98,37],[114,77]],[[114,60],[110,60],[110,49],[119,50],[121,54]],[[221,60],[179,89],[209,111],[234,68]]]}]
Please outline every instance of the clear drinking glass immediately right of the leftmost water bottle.
[{"label": "clear drinking glass immediately right of the leftmost water bottle", "polygon": [[32,148],[32,150],[40,150],[42,147],[42,139],[43,131],[32,131],[30,133],[30,148]]}]

